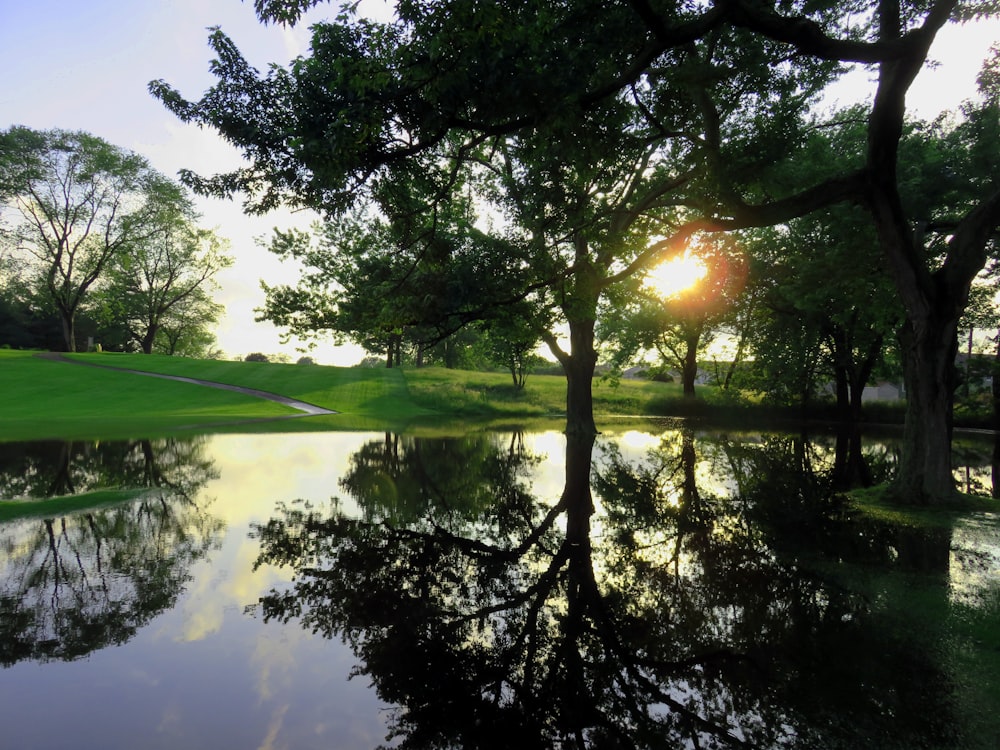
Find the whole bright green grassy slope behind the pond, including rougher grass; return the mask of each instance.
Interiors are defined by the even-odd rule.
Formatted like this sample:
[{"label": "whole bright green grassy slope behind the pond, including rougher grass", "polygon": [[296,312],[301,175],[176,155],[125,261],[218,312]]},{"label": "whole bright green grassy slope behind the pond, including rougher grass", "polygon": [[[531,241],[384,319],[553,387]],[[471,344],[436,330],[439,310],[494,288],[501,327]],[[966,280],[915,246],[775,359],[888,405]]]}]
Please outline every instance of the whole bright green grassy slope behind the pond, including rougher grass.
[{"label": "whole bright green grassy slope behind the pond, including rougher grass", "polygon": [[[560,417],[562,377],[536,375],[523,390],[503,373],[440,368],[367,369],[195,360],[142,354],[75,354],[79,364],[0,351],[0,440],[112,438],[174,431],[354,430],[433,427],[454,420]],[[121,368],[121,369],[108,369]],[[254,388],[333,409],[299,417],[282,404],[124,370]],[[594,382],[597,415],[666,413],[673,384]]]}]

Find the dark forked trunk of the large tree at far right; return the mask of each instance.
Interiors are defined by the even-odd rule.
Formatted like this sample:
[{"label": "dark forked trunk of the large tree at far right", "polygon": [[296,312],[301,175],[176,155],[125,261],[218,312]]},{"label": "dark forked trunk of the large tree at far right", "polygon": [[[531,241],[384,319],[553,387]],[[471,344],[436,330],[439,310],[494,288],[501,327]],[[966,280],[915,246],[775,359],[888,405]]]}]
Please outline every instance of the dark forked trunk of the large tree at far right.
[{"label": "dark forked trunk of the large tree at far right", "polygon": [[953,6],[941,3],[928,13],[919,33],[903,37],[898,0],[880,3],[880,41],[898,44],[900,54],[879,66],[868,121],[867,203],[906,312],[900,333],[906,423],[893,489],[900,500],[912,504],[946,503],[956,492],[951,426],[958,319],[969,285],[986,262],[986,242],[998,215],[996,195],[973,209],[948,243],[945,263],[933,271],[923,238],[914,232],[900,199],[897,167],[906,92]]}]

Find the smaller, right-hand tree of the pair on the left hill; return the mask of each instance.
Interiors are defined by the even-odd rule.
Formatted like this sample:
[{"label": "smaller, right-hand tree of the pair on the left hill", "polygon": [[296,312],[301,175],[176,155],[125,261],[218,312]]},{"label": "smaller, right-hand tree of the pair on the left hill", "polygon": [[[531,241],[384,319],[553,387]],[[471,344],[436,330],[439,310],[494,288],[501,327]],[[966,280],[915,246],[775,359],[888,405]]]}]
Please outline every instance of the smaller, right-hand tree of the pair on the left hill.
[{"label": "smaller, right-hand tree of the pair on the left hill", "polygon": [[202,328],[215,321],[217,306],[208,291],[216,274],[233,262],[225,252],[228,243],[197,227],[189,205],[169,209],[157,231],[113,259],[100,292],[105,315],[124,323],[146,354],[158,341],[176,351],[180,332],[192,333],[190,325],[179,325],[195,320],[189,312],[207,316]]}]

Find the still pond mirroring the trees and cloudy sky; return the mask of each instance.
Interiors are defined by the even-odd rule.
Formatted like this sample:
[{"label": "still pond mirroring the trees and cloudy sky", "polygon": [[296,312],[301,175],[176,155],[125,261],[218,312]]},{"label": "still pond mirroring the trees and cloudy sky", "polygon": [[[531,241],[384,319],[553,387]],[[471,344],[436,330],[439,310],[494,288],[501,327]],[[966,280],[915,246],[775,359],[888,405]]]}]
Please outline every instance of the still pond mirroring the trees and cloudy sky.
[{"label": "still pond mirroring the trees and cloudy sky", "polygon": [[[680,422],[0,445],[4,499],[84,495],[0,523],[2,744],[996,747],[1000,505],[845,506],[895,455]],[[956,478],[997,494],[997,455]]]}]

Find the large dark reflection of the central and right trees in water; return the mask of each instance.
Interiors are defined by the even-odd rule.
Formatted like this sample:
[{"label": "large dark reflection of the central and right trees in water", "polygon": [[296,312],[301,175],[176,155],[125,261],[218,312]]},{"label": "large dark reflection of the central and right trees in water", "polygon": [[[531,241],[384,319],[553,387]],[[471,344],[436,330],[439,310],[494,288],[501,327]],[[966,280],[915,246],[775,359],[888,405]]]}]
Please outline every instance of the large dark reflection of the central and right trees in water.
[{"label": "large dark reflection of the central and right trees in water", "polygon": [[[344,639],[402,747],[961,744],[902,592],[841,574],[940,572],[948,533],[855,524],[807,441],[699,455],[683,430],[630,461],[602,439],[592,466],[566,440],[558,499],[516,436],[370,443],[341,483],[361,518],[293,504],[255,529],[257,565],[295,573],[259,611]],[[735,492],[701,489],[723,474]]]}]

